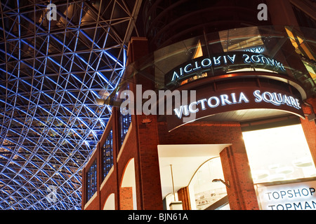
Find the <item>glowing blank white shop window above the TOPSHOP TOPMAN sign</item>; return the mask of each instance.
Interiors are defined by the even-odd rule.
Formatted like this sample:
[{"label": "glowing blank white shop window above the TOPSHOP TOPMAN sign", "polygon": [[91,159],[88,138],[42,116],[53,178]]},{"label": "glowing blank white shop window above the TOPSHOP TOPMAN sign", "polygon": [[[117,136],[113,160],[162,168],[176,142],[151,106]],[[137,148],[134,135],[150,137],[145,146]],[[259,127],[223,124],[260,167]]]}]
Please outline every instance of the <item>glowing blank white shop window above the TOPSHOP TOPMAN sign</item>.
[{"label": "glowing blank white shop window above the TOPSHOP TOPMAN sign", "polygon": [[301,125],[243,132],[254,183],[316,176]]}]

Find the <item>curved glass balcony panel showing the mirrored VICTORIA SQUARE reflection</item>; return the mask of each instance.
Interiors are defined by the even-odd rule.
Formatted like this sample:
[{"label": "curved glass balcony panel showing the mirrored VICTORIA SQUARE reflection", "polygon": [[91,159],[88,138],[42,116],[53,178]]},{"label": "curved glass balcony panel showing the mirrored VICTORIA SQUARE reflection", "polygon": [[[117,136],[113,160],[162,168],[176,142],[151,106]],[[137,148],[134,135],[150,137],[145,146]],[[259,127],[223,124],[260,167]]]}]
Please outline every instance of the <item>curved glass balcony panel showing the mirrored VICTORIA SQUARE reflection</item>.
[{"label": "curved glass balcony panel showing the mirrored VICTORIA SQUARE reflection", "polygon": [[[155,87],[172,89],[210,76],[244,71],[266,71],[298,81],[315,94],[315,34],[305,27],[243,27],[195,36],[174,43],[129,64],[126,76],[147,77]],[[308,62],[308,67],[304,66]],[[186,71],[185,71],[186,69]],[[175,74],[176,72],[176,74]],[[249,73],[251,74],[251,73]],[[173,79],[174,76],[179,78]]]}]

